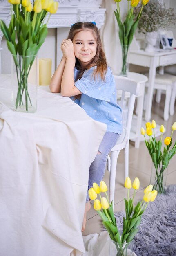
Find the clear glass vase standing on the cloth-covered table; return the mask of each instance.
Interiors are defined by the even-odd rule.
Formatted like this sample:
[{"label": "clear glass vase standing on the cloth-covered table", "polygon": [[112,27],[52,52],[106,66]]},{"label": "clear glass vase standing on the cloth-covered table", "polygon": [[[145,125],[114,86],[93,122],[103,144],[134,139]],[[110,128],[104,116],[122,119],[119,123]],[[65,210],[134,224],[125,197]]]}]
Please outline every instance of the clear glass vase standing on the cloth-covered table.
[{"label": "clear glass vase standing on the cloth-covered table", "polygon": [[37,57],[11,57],[12,108],[18,112],[37,110]]}]

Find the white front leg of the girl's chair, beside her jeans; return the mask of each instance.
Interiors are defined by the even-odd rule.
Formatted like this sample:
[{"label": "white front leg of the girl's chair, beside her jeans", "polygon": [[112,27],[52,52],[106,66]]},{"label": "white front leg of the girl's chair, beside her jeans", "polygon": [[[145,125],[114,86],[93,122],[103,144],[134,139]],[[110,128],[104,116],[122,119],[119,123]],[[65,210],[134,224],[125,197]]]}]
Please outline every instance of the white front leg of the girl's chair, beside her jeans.
[{"label": "white front leg of the girl's chair, beside her jeans", "polygon": [[109,202],[113,200],[114,207],[114,193],[115,193],[115,184],[116,184],[116,167],[117,167],[117,158],[120,153],[118,151],[111,151],[111,171],[109,177]]}]

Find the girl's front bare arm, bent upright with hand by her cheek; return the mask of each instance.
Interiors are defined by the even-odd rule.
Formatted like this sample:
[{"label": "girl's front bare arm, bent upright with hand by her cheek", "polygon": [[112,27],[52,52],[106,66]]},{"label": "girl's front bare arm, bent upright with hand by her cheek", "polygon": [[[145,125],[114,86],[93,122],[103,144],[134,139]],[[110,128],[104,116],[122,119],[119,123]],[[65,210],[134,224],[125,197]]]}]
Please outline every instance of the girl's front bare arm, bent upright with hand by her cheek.
[{"label": "girl's front bare arm, bent upright with hand by her cheek", "polygon": [[75,54],[72,41],[70,39],[63,40],[61,49],[66,58],[61,81],[61,94],[62,96],[81,94],[82,92],[75,87],[74,82]]}]

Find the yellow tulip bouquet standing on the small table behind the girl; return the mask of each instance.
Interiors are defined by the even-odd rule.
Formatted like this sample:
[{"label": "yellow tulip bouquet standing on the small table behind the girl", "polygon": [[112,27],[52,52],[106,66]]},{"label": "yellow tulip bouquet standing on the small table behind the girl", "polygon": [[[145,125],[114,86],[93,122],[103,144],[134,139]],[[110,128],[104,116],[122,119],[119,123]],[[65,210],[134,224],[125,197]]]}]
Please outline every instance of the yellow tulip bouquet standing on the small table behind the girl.
[{"label": "yellow tulip bouquet standing on the small table behind the girl", "polygon": [[[123,65],[122,65],[122,75],[126,75],[127,69],[126,69],[126,61],[127,61],[127,53],[129,49],[129,45],[131,44],[133,40],[134,33],[138,27],[138,22],[143,10],[143,6],[146,5],[149,0],[141,0],[142,7],[138,13],[138,15],[134,15],[133,9],[136,7],[140,0],[127,0],[128,1],[128,11],[127,16],[125,18],[125,21],[122,22],[120,17],[120,4],[121,0],[114,0],[117,4],[117,9],[114,11],[114,14],[116,16],[116,20],[118,22],[119,27],[119,39],[122,47],[122,55],[123,55]],[[129,2],[131,1],[131,9],[129,7]]]}]

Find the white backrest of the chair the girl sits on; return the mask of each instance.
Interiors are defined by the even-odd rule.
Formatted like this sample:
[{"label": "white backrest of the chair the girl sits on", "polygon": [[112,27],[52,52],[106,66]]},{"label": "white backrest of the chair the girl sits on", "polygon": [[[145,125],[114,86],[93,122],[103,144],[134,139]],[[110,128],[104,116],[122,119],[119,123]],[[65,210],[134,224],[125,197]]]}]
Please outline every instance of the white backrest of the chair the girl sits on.
[{"label": "white backrest of the chair the girl sits on", "polygon": [[136,96],[138,96],[139,94],[140,83],[135,80],[129,79],[128,77],[116,75],[114,75],[114,80],[116,83],[116,91],[118,96],[120,90],[121,99],[118,104],[122,108],[123,126],[127,128],[129,139],[134,111],[134,103]]}]

